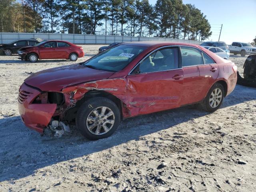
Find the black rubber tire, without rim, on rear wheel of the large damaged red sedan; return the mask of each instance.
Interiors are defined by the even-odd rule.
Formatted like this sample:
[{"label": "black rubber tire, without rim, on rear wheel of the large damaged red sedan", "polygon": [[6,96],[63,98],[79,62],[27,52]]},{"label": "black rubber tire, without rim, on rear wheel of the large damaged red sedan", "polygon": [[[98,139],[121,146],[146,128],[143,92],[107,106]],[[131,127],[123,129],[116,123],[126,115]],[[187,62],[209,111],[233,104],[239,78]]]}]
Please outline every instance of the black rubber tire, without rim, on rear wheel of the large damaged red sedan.
[{"label": "black rubber tire, without rim, on rear wheel of the large damaged red sedan", "polygon": [[[210,104],[210,99],[212,99],[211,94],[212,94],[213,91],[216,90],[216,89],[217,89],[217,90],[219,89],[219,90],[221,91],[221,94],[222,94],[222,95],[221,95],[221,99],[219,100],[220,103],[219,103],[216,107],[213,107],[213,106],[211,106],[211,104]],[[204,98],[203,102],[201,103],[202,109],[205,110],[205,111],[207,111],[207,112],[214,112],[214,111],[216,111],[218,108],[220,108],[220,106],[221,106],[221,104],[222,104],[222,102],[223,102],[224,94],[225,94],[225,91],[224,91],[224,88],[223,88],[222,84],[220,84],[220,83],[214,84],[214,85],[210,88],[210,90],[209,90],[209,92],[208,92],[206,98]],[[213,100],[213,102],[214,102],[214,100]]]}]

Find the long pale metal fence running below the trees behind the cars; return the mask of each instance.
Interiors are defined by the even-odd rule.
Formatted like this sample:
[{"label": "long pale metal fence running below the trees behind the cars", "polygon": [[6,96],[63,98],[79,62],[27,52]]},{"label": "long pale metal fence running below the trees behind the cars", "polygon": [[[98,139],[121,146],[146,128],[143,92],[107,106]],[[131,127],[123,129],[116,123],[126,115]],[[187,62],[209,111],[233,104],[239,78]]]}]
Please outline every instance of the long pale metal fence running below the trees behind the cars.
[{"label": "long pale metal fence running below the trees behind the cars", "polygon": [[19,39],[41,38],[65,40],[74,44],[111,44],[114,42],[131,41],[173,41],[192,44],[200,44],[200,41],[160,38],[160,37],[132,37],[119,35],[83,35],[83,34],[61,34],[61,33],[0,33],[0,44],[10,43]]}]

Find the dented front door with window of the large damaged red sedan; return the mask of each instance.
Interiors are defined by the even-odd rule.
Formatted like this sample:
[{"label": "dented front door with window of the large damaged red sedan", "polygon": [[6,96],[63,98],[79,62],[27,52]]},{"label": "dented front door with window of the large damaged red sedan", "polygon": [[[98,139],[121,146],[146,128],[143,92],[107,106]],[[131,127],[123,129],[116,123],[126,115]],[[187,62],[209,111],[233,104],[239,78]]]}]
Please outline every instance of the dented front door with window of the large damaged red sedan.
[{"label": "dented front door with window of the large damaged red sedan", "polygon": [[178,48],[157,50],[127,76],[127,102],[132,116],[180,106],[183,70]]}]

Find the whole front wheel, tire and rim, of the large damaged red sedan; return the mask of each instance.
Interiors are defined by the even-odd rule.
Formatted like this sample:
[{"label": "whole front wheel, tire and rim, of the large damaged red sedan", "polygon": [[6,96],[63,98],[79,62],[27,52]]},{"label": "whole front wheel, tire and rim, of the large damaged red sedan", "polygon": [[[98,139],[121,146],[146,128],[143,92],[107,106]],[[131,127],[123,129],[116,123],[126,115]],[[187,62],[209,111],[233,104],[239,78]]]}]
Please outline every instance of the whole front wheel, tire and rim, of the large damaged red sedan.
[{"label": "whole front wheel, tire and rim, of the large damaged red sedan", "polygon": [[109,137],[120,124],[120,110],[107,98],[96,97],[84,102],[76,115],[76,126],[80,133],[90,139]]}]

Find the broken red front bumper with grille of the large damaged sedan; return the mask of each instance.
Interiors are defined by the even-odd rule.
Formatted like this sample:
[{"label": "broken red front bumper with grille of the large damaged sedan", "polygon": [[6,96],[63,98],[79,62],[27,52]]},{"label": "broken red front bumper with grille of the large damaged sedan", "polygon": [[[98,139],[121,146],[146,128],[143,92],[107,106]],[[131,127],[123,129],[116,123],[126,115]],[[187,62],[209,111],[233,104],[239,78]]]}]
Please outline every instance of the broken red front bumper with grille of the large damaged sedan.
[{"label": "broken red front bumper with grille of the large damaged sedan", "polygon": [[40,90],[23,83],[18,95],[18,110],[27,127],[43,133],[56,111],[57,104],[33,104],[39,94]]}]

